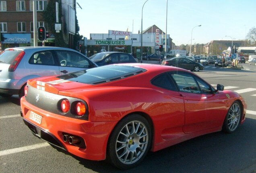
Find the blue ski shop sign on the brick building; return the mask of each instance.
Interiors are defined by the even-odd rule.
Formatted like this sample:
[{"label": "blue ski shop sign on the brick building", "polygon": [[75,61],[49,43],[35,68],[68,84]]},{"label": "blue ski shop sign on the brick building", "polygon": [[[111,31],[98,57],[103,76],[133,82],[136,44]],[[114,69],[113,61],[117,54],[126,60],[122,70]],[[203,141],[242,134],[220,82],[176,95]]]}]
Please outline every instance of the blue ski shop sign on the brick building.
[{"label": "blue ski shop sign on the brick building", "polygon": [[28,44],[31,34],[2,34],[2,44]]}]

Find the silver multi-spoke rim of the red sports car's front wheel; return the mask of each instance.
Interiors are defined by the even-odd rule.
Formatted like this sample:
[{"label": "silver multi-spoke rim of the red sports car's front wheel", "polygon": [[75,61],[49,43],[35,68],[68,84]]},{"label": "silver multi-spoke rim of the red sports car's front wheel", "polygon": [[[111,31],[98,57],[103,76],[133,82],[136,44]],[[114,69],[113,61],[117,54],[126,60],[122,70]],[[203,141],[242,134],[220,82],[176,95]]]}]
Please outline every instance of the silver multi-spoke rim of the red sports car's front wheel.
[{"label": "silver multi-spoke rim of the red sports car's front wheel", "polygon": [[227,118],[227,125],[230,131],[234,131],[237,128],[237,126],[239,125],[240,117],[240,106],[237,103],[235,103],[229,109],[229,114]]}]

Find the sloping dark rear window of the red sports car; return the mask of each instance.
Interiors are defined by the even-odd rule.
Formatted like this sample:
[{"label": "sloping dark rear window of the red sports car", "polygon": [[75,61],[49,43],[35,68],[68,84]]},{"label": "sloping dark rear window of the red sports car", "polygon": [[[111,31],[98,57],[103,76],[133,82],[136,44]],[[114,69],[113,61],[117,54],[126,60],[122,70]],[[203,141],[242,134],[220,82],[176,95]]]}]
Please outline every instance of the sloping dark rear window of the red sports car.
[{"label": "sloping dark rear window of the red sports car", "polygon": [[65,74],[58,78],[86,84],[100,84],[134,76],[145,71],[144,68],[134,66],[108,65]]}]

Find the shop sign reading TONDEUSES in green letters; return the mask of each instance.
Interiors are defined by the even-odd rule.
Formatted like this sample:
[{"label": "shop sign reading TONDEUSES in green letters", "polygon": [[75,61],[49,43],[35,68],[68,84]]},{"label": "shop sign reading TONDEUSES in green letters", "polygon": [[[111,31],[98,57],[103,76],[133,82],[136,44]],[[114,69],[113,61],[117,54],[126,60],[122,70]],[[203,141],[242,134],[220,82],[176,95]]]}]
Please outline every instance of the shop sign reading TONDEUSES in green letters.
[{"label": "shop sign reading TONDEUSES in green letters", "polygon": [[132,45],[132,40],[87,40],[87,45]]}]

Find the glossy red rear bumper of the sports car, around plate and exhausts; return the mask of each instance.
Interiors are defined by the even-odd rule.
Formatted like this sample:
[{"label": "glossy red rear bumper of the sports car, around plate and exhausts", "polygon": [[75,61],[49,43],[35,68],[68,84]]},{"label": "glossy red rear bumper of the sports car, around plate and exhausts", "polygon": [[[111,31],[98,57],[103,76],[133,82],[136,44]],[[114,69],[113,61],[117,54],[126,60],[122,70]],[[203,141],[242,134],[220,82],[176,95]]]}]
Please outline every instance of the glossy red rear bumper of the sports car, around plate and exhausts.
[{"label": "glossy red rear bumper of the sports car, around plate and exhausts", "polygon": [[[91,122],[56,115],[31,105],[25,97],[21,98],[21,111],[25,124],[37,137],[84,159],[106,158],[107,141],[116,121]],[[41,124],[29,118],[31,111],[42,117]],[[81,143],[65,142],[64,135],[78,137]]]}]

